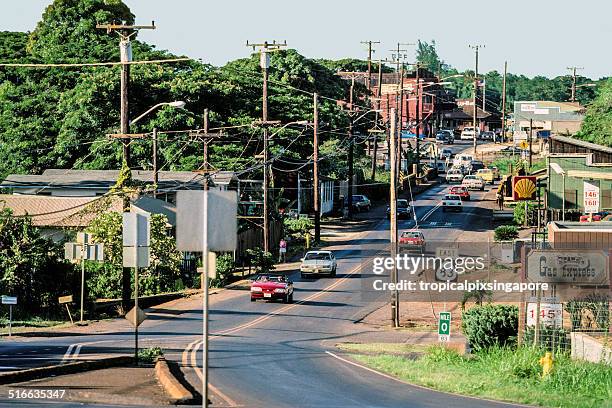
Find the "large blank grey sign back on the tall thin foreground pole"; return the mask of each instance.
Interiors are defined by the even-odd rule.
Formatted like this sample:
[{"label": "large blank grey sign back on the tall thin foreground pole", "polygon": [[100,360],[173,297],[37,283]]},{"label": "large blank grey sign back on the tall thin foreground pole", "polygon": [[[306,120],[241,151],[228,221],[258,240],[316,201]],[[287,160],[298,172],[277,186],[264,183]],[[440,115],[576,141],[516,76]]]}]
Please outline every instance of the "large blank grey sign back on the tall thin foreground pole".
[{"label": "large blank grey sign back on the tall thin foreground pole", "polygon": [[[208,199],[205,200],[205,194]],[[202,252],[204,214],[208,220],[208,250],[233,251],[237,244],[238,196],[235,191],[178,191],[176,246],[179,251]]]}]

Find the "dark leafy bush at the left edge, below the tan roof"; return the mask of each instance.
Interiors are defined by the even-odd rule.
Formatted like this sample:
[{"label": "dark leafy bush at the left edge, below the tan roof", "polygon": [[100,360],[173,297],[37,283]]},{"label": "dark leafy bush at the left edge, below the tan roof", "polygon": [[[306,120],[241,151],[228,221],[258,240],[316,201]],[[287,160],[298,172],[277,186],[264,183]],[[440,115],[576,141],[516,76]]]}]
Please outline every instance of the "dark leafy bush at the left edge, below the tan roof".
[{"label": "dark leafy bush at the left edge, below the tan roof", "polygon": [[63,249],[42,237],[31,218],[0,210],[0,294],[19,298],[16,317],[57,310],[57,296],[71,292],[72,279]]}]

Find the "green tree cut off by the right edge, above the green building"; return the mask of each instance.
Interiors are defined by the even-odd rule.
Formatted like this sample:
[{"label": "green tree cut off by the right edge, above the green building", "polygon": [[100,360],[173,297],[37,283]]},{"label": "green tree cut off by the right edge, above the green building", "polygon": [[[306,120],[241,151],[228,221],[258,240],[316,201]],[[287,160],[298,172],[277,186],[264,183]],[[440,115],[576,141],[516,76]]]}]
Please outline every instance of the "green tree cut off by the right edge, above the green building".
[{"label": "green tree cut off by the right edge, above the green building", "polygon": [[612,147],[612,78],[603,82],[586,111],[577,139]]}]

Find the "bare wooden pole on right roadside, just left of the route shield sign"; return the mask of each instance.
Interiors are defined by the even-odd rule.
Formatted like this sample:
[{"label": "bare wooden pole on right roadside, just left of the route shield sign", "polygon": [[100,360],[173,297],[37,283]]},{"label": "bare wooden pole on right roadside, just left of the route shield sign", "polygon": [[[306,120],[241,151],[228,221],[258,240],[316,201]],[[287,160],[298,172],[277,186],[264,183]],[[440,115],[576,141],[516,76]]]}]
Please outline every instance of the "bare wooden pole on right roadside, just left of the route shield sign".
[{"label": "bare wooden pole on right roadside, just left of the route shield sign", "polygon": [[[390,139],[391,139],[391,148],[390,152],[390,167],[391,167],[391,188],[389,189],[389,211],[390,211],[390,245],[391,245],[391,258],[395,261],[397,255],[397,172],[396,172],[396,161],[397,161],[397,151],[395,149],[396,142],[396,131],[395,131],[395,108],[391,109],[391,131]],[[397,283],[397,264],[394,262],[393,271],[391,273],[391,281],[393,283]],[[399,293],[397,290],[393,292],[393,297],[391,299],[391,321],[393,322],[393,327],[399,327]]]}]

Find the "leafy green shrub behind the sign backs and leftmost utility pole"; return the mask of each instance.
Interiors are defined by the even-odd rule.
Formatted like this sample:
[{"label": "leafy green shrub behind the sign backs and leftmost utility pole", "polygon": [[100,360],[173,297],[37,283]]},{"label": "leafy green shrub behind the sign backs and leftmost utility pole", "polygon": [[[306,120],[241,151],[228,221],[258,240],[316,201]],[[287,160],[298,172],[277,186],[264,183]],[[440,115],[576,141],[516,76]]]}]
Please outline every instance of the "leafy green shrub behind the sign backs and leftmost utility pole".
[{"label": "leafy green shrub behind the sign backs and leftmost utility pole", "polygon": [[[86,262],[87,286],[92,298],[121,296],[123,241],[122,215],[105,212],[95,218],[87,229],[94,242],[104,244],[103,263]],[[151,216],[151,265],[139,269],[140,295],[172,291],[180,278],[181,255],[174,239],[167,232],[168,220],[161,214]],[[132,277],[133,279],[133,277]],[[133,284],[133,283],[132,283]]]}]

